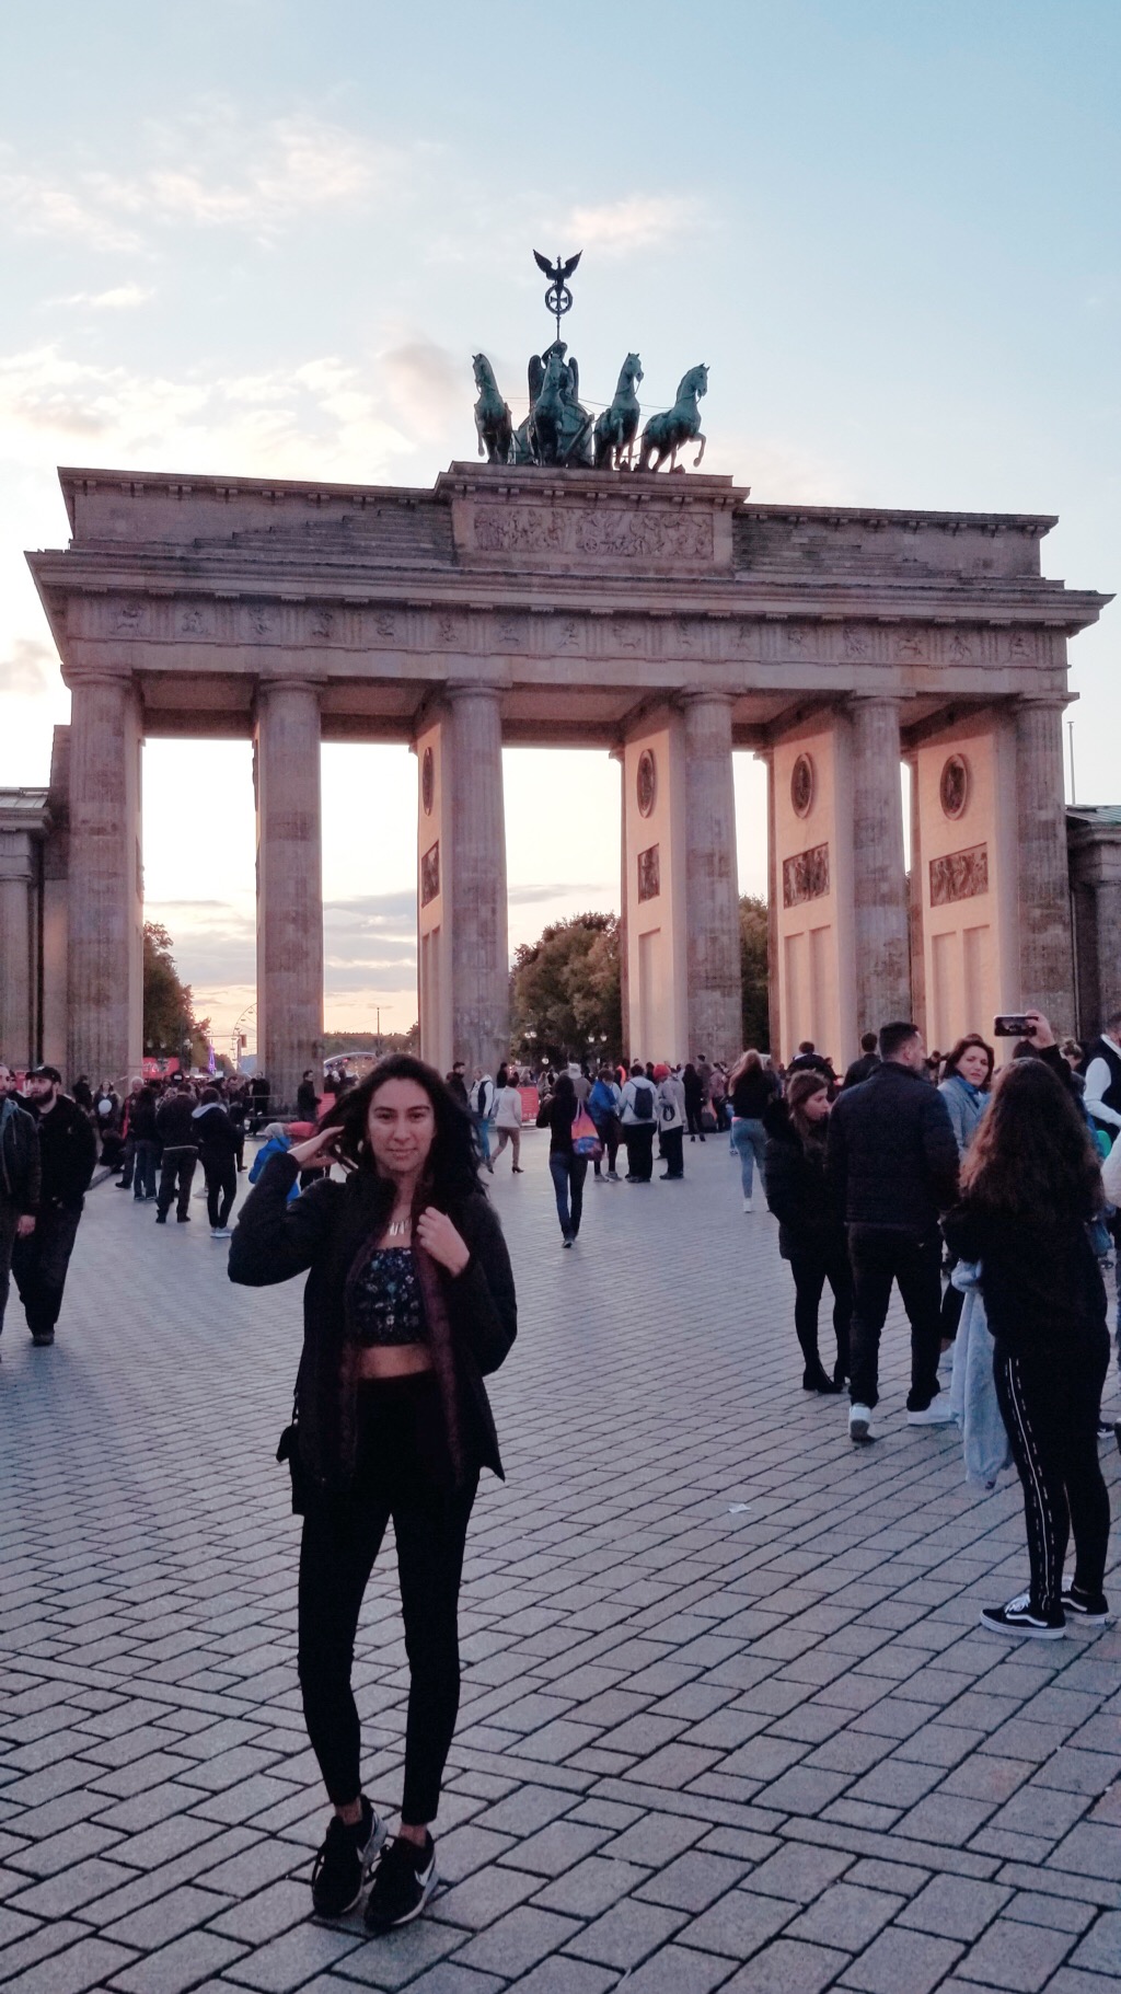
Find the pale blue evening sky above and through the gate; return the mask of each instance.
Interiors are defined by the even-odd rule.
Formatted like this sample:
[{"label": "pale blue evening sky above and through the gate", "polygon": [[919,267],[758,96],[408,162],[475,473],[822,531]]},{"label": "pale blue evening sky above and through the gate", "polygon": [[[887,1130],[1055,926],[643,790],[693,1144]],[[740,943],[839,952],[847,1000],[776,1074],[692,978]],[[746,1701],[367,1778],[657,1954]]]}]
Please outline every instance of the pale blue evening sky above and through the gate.
[{"label": "pale blue evening sky above and through the gate", "polygon": [[[535,247],[582,251],[586,401],[628,351],[646,411],[706,361],[704,469],[754,498],[1053,512],[1043,570],[1115,590],[1119,100],[1117,0],[8,8],[0,784],[44,784],[68,718],[24,566],[66,542],[56,467],[431,485],[475,455],[473,353],[525,397]],[[1119,632],[1071,646],[1079,802],[1121,800]],[[415,782],[323,750],[329,1029],[413,1023]],[[614,907],[614,764],[519,750],[505,782],[511,945]],[[221,1047],[249,752],[152,742],[144,784],[148,911]],[[762,891],[750,756],[736,796]]]}]

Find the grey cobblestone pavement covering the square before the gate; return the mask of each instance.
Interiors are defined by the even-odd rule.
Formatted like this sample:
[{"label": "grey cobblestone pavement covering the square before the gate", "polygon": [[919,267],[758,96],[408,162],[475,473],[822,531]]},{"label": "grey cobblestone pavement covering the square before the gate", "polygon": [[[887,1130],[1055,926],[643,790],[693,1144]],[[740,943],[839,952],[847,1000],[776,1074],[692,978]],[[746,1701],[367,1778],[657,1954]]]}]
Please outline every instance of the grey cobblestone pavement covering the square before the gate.
[{"label": "grey cobblestone pavement covering the square before the gate", "polygon": [[[953,1430],[808,1400],[768,1214],[726,1145],[588,1184],[560,1252],[543,1139],[495,1180],[521,1336],[495,1380],[447,1888],[385,1940],[307,1918],[325,1825],[273,1464],[299,1282],[225,1280],[205,1208],[88,1200],[54,1350],[0,1366],[6,1994],[1103,1994],[1121,1974],[1121,1637],[1013,1643],[1015,1486]],[[1113,1390],[1113,1388],[1111,1388]],[[1119,1462],[1109,1454],[1107,1474]],[[1121,1601],[1119,1601],[1121,1603]],[[367,1787],[399,1799],[393,1571],[359,1635]]]}]

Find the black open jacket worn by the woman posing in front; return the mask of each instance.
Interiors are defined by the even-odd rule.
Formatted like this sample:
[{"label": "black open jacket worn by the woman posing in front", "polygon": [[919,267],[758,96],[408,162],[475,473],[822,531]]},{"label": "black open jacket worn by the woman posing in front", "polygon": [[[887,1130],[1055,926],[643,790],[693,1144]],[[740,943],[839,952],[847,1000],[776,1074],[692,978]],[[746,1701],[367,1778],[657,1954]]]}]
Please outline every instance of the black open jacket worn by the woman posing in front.
[{"label": "black open jacket worn by the woman posing in front", "polygon": [[[361,1168],[341,1184],[323,1178],[289,1204],[297,1174],[287,1155],[261,1170],[233,1232],[229,1280],[269,1288],[307,1274],[295,1384],[299,1466],[313,1490],[329,1494],[345,1490],[355,1472],[361,1346],[347,1324],[347,1276],[381,1232],[393,1192]],[[449,1460],[457,1480],[475,1468],[503,1476],[483,1378],[499,1370],[517,1336],[511,1258],[481,1190],[449,1206],[449,1218],[471,1250],[463,1274],[449,1274],[413,1240]]]}]

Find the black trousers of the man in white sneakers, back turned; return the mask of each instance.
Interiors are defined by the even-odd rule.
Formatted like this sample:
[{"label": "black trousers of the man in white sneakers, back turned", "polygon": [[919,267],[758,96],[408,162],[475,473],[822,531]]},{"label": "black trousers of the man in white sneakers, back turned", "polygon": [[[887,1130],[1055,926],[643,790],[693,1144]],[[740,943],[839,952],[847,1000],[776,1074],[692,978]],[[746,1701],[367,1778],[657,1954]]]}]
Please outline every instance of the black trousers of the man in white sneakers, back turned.
[{"label": "black trousers of the man in white sneakers, back turned", "polygon": [[937,1228],[928,1238],[902,1226],[850,1226],[852,1262],[852,1372],[854,1406],[876,1406],[880,1398],[880,1332],[888,1320],[892,1282],[912,1324],[912,1390],[908,1412],[926,1412],[937,1398],[937,1358],[941,1346],[941,1240]]}]

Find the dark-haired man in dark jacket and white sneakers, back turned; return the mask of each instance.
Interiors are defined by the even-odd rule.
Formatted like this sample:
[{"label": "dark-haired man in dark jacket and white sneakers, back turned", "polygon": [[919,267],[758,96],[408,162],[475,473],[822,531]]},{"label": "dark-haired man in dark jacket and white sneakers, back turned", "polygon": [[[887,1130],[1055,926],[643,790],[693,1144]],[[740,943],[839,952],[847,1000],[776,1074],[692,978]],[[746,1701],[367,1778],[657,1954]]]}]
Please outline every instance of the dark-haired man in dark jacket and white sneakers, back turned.
[{"label": "dark-haired man in dark jacket and white sneakers, back turned", "polygon": [[884,1025],[880,1067],[846,1089],[830,1115],[828,1172],[848,1224],[854,1278],[848,1430],[872,1440],[880,1332],[892,1282],[912,1324],[908,1426],[941,1426],[937,1404],[941,1234],[937,1216],[957,1196],[957,1143],[945,1101],[924,1075],[922,1033]]}]

